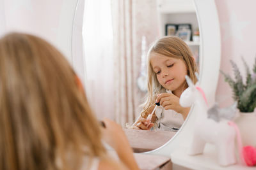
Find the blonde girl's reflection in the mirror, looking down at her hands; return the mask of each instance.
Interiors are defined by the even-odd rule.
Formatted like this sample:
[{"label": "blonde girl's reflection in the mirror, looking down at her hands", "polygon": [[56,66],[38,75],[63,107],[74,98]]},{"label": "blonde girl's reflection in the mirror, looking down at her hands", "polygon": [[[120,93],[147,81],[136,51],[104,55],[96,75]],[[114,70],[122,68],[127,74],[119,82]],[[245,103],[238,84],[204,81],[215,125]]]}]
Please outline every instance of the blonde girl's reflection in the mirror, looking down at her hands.
[{"label": "blonde girl's reflection in the mirror, looking down at her hands", "polygon": [[[132,127],[150,129],[153,125],[163,131],[177,131],[186,119],[189,108],[182,108],[179,97],[188,87],[185,75],[196,82],[198,71],[188,45],[176,36],[157,39],[148,50],[148,94],[143,111]],[[157,107],[148,125],[146,120],[155,103]]]}]

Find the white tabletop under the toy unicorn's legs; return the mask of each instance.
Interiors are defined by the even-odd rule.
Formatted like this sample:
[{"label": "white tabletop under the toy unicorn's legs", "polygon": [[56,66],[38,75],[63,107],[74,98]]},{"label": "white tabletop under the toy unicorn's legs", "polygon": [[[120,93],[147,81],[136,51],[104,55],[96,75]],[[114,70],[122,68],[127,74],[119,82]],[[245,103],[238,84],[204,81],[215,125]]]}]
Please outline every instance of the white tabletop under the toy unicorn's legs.
[{"label": "white tabletop under the toy unicorn's legs", "polygon": [[171,154],[173,164],[189,169],[216,169],[216,170],[252,170],[255,167],[242,166],[241,164],[234,164],[232,166],[219,166],[217,151],[215,146],[211,144],[205,145],[204,153],[201,155],[188,155],[187,147],[180,147]]}]

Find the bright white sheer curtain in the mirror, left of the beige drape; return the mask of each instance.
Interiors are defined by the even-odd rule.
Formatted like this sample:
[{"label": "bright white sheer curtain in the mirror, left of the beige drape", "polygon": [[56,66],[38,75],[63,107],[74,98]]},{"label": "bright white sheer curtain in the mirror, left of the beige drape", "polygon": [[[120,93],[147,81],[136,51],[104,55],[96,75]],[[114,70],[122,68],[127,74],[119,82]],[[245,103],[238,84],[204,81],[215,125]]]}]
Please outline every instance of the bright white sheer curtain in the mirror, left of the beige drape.
[{"label": "bright white sheer curtain in the mirror, left of the beige drape", "polygon": [[84,8],[84,66],[88,100],[98,118],[114,119],[113,29],[110,0],[88,0]]}]

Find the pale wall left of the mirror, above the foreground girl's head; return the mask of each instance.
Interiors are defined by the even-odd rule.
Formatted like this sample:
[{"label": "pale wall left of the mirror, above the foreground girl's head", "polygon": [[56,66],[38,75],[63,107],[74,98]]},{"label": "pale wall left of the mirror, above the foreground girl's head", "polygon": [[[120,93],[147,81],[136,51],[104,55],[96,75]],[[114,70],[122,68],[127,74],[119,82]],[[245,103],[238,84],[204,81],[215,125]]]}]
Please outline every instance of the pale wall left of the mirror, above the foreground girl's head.
[{"label": "pale wall left of the mirror, above the foreground girl's head", "polygon": [[55,45],[71,62],[72,23],[77,0],[0,0],[0,36],[35,34]]}]

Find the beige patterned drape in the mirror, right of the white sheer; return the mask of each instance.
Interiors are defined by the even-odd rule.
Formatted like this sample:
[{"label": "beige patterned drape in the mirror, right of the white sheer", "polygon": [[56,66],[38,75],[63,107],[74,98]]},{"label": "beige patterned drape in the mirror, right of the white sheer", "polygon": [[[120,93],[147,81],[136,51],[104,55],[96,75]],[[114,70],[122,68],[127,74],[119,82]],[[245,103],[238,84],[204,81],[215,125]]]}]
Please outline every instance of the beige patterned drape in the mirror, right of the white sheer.
[{"label": "beige patterned drape in the mirror, right of the white sheer", "polygon": [[135,118],[136,64],[132,0],[112,0],[115,59],[115,120],[122,126]]}]

